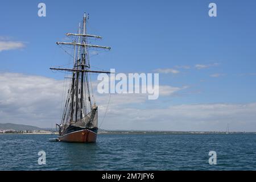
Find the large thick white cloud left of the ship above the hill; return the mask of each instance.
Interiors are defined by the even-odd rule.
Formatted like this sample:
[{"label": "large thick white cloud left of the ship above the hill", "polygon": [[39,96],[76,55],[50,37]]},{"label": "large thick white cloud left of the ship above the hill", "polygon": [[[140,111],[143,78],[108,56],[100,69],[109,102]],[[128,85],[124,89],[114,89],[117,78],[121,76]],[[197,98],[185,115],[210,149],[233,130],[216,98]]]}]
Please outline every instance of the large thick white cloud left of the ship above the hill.
[{"label": "large thick white cloud left of the ship above the hill", "polygon": [[[0,73],[1,122],[50,126],[60,118],[63,82],[19,73]],[[48,122],[48,123],[47,123]]]}]

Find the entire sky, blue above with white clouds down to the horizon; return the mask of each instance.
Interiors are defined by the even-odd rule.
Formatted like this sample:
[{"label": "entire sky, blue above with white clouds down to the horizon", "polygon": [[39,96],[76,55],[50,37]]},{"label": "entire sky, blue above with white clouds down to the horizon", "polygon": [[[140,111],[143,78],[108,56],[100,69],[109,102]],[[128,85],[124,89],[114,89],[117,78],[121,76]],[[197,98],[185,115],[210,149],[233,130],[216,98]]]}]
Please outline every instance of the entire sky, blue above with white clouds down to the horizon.
[{"label": "entire sky, blue above with white clouds down to the horizon", "polygon": [[[256,131],[255,1],[6,1],[0,7],[0,122],[51,127],[60,122],[63,73],[69,41],[84,11],[94,42],[111,51],[91,51],[95,69],[159,73],[159,98],[146,94],[94,97],[102,129]],[[65,52],[66,51],[66,52]],[[110,102],[109,102],[110,101]]]}]

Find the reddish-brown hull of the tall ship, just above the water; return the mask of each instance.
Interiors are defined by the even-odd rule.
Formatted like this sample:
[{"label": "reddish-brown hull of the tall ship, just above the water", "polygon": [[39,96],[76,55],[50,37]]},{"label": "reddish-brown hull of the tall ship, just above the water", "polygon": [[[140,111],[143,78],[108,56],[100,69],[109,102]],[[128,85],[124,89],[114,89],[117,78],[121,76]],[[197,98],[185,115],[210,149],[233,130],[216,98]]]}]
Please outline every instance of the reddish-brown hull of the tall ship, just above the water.
[{"label": "reddish-brown hull of the tall ship, just above the water", "polygon": [[59,140],[60,142],[92,143],[96,142],[96,132],[89,129],[76,130],[59,136]]}]

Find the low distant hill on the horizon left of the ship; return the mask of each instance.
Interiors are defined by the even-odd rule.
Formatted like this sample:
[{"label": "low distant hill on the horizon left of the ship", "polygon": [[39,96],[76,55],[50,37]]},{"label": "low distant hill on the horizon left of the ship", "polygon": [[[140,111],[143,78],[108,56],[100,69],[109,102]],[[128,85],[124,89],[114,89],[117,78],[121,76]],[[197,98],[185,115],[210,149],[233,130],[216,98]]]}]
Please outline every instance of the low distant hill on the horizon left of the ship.
[{"label": "low distant hill on the horizon left of the ship", "polygon": [[41,129],[40,127],[30,125],[18,125],[14,123],[0,123],[0,130],[51,130]]}]

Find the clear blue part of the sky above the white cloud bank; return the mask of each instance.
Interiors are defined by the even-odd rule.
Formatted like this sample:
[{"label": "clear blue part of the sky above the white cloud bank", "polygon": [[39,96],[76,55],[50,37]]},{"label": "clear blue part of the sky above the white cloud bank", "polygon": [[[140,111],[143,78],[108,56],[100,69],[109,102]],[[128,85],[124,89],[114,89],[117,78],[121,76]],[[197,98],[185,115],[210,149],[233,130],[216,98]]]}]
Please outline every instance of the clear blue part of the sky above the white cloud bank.
[{"label": "clear blue part of the sky above the white cloud bank", "polygon": [[[46,17],[38,16],[40,2],[46,3]],[[217,17],[208,15],[210,2],[217,5]],[[253,103],[255,6],[255,1],[1,2],[0,38],[24,47],[0,51],[0,72],[62,80],[48,68],[70,58],[55,42],[76,32],[86,11],[88,32],[104,37],[94,43],[112,47],[93,56],[92,65],[123,73],[174,69],[178,73],[160,73],[160,85],[187,87],[141,108]]]}]

